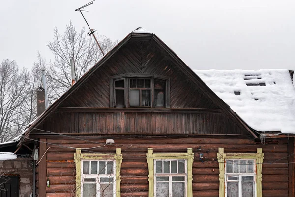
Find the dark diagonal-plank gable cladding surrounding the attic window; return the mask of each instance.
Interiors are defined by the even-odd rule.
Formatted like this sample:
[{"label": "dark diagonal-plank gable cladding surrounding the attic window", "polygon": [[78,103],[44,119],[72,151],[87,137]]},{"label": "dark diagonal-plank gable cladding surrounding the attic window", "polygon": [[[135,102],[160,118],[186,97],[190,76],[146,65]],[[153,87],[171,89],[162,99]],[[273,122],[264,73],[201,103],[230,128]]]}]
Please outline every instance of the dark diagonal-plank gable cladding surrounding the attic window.
[{"label": "dark diagonal-plank gable cladding surrounding the attic window", "polygon": [[171,108],[218,108],[191,83],[176,63],[157,48],[153,40],[129,41],[60,107],[109,107],[109,77],[126,73],[170,78]]}]

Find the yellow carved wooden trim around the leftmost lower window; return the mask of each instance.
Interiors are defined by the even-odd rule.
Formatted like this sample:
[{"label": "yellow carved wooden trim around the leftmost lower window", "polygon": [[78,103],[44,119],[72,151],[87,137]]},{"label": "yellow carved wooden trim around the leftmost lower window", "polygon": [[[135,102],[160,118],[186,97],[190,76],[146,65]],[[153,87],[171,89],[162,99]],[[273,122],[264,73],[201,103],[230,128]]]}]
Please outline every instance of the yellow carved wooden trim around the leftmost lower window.
[{"label": "yellow carved wooden trim around the leftmost lower window", "polygon": [[81,160],[110,160],[116,161],[116,197],[121,197],[121,164],[123,155],[121,154],[121,149],[116,148],[116,153],[81,153],[81,148],[76,149],[74,153],[74,160],[76,165],[76,197],[81,197]]}]

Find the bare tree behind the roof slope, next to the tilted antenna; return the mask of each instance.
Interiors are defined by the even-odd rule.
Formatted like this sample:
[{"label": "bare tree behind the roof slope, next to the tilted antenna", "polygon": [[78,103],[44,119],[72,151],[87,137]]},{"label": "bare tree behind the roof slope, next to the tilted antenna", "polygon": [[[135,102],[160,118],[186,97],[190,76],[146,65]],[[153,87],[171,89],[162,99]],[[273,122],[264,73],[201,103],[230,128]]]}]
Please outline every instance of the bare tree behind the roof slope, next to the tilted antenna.
[{"label": "bare tree behind the roof slope, next to the tilted antenna", "polygon": [[[98,38],[105,53],[117,44],[105,36]],[[95,40],[86,35],[85,29],[82,28],[78,33],[71,21],[66,25],[64,34],[59,34],[58,29],[54,29],[54,39],[47,46],[55,56],[47,72],[48,91],[51,92],[48,97],[53,102],[71,87],[69,58],[74,58],[77,81],[102,57],[102,52]]]}]

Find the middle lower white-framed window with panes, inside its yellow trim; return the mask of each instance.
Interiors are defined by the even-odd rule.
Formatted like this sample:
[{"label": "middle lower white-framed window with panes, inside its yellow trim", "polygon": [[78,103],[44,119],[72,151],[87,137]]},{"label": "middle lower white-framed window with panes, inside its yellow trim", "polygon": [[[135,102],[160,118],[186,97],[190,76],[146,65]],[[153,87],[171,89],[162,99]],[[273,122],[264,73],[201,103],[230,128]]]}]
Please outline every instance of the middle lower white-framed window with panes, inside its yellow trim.
[{"label": "middle lower white-framed window with panes, inside its yellow trim", "polygon": [[156,197],[185,197],[186,160],[154,160]]}]

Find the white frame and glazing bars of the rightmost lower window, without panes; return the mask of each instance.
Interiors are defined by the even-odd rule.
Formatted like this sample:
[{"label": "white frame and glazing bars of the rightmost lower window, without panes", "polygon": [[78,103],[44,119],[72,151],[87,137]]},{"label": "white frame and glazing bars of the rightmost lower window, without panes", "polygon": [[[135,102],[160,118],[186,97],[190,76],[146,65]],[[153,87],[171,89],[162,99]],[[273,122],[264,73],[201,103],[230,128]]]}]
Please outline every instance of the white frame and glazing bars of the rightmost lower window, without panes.
[{"label": "white frame and glazing bars of the rightmost lower window, without panes", "polygon": [[[224,182],[225,182],[225,196],[227,197],[227,182],[238,182],[238,191],[239,191],[239,194],[238,196],[239,197],[242,197],[242,176],[253,176],[253,181],[251,182],[254,182],[254,188],[253,188],[253,193],[254,193],[254,197],[257,197],[257,192],[256,192],[256,176],[257,176],[257,170],[256,170],[256,160],[255,159],[225,159],[225,162],[227,161],[234,161],[234,160],[238,160],[239,161],[239,168],[240,168],[240,161],[241,160],[252,160],[253,161],[253,173],[234,173],[234,170],[232,173],[227,173],[227,165],[225,163],[225,167],[224,167],[224,175],[225,175],[225,178],[224,178]],[[233,166],[232,166],[233,167]],[[228,180],[228,176],[238,176],[238,181],[236,180]],[[244,181],[244,182],[247,182],[247,181]]]}]

